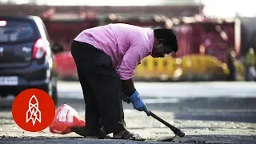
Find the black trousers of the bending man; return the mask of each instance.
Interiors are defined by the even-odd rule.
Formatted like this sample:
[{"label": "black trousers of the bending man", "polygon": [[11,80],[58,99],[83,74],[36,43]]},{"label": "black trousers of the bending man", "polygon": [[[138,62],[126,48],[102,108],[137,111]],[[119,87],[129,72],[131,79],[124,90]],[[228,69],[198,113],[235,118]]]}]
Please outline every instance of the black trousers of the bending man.
[{"label": "black trousers of the bending man", "polygon": [[86,103],[86,133],[90,136],[126,130],[122,82],[109,55],[94,46],[74,41],[71,53]]}]

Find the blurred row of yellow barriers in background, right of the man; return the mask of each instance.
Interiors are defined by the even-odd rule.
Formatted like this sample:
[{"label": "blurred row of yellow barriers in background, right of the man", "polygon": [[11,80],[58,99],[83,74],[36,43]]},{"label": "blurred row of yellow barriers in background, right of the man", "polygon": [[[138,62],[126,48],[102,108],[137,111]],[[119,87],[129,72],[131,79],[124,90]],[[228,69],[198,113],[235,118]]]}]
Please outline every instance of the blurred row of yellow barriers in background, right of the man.
[{"label": "blurred row of yellow barriers in background, right of the man", "polygon": [[[244,67],[241,62],[235,62],[240,79],[244,74]],[[165,58],[152,58],[148,56],[142,59],[137,66],[134,78],[146,80],[176,80],[187,76],[218,75],[226,77],[230,74],[226,63],[218,61],[211,55],[191,54],[183,58],[172,58],[169,55]]]}]

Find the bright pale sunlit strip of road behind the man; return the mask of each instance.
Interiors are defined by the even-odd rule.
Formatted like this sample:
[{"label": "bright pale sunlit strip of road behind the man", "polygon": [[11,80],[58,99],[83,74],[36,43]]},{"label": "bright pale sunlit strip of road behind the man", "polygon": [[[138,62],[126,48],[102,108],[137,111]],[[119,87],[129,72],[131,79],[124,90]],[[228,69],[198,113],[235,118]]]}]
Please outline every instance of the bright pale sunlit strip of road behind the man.
[{"label": "bright pale sunlit strip of road behind the man", "polygon": [[[136,82],[146,98],[255,98],[255,82]],[[60,82],[61,98],[82,98],[78,82]]]}]

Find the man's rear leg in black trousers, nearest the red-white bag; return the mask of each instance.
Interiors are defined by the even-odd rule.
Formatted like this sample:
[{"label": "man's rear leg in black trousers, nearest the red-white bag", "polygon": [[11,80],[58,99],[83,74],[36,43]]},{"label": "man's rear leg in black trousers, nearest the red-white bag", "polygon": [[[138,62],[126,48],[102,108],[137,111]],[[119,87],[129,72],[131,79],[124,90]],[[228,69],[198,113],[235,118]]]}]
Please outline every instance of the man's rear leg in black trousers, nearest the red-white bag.
[{"label": "man's rear leg in black trousers, nearest the red-white bag", "polygon": [[83,136],[98,136],[100,125],[99,125],[99,109],[98,102],[94,96],[93,90],[86,79],[86,65],[83,62],[83,55],[80,52],[84,47],[78,42],[73,42],[71,46],[72,56],[77,66],[78,78],[82,86],[82,92],[86,105],[86,126],[76,127],[74,131]]}]

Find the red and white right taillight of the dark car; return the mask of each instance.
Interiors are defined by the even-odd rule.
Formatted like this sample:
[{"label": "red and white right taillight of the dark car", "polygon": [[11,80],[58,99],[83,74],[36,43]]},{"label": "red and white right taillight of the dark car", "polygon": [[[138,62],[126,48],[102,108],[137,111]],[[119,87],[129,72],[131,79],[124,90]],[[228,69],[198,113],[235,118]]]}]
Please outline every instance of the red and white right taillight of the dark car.
[{"label": "red and white right taillight of the dark car", "polygon": [[32,57],[34,59],[40,59],[45,55],[46,55],[45,42],[43,42],[42,38],[38,38],[38,40],[34,43]]}]

